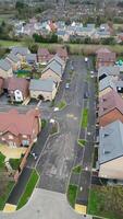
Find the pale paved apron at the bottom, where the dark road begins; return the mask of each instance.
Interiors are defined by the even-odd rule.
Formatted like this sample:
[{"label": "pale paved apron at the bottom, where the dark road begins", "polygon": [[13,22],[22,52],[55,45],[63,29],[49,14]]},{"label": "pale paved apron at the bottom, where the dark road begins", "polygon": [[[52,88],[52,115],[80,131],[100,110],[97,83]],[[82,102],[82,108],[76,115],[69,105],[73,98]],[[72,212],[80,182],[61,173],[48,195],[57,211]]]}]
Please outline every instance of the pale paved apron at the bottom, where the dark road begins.
[{"label": "pale paved apron at the bottom, where the dark road begins", "polygon": [[[27,205],[14,214],[1,214],[0,219],[84,219],[69,205],[64,194],[35,189]],[[87,216],[86,219],[91,219]]]}]

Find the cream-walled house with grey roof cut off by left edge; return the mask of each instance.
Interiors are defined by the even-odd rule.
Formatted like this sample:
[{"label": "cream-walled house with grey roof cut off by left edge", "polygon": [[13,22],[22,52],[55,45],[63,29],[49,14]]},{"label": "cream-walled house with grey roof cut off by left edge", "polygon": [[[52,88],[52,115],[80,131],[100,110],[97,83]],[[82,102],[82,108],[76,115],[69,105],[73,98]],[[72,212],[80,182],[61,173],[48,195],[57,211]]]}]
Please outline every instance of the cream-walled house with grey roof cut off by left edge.
[{"label": "cream-walled house with grey roof cut off by left edge", "polygon": [[13,76],[12,65],[5,59],[1,59],[0,60],[0,78],[7,79],[12,76]]}]

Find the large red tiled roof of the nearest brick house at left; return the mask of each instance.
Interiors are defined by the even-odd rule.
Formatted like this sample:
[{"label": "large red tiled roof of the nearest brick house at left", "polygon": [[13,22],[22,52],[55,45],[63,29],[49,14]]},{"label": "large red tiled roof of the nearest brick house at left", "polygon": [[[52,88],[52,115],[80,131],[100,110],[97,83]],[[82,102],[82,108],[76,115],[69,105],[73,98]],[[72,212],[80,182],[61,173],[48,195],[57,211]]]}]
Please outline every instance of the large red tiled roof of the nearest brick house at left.
[{"label": "large red tiled roof of the nearest brick house at left", "polygon": [[16,110],[0,113],[0,134],[9,131],[15,136],[32,135],[34,120],[38,116],[38,110],[30,110],[26,114],[21,114]]}]

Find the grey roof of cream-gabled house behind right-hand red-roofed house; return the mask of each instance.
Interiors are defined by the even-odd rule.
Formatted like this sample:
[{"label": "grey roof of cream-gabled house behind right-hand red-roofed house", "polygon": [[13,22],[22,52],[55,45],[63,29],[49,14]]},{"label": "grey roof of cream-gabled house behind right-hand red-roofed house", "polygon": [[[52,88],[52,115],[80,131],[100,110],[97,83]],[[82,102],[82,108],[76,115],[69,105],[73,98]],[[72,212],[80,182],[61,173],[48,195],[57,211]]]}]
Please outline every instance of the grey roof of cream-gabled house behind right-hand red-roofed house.
[{"label": "grey roof of cream-gabled house behind right-hand red-roofed house", "polygon": [[100,82],[99,82],[99,91],[103,91],[107,88],[112,88],[113,90],[116,91],[116,85],[113,82],[113,78],[111,76],[108,76],[106,78],[103,78]]}]

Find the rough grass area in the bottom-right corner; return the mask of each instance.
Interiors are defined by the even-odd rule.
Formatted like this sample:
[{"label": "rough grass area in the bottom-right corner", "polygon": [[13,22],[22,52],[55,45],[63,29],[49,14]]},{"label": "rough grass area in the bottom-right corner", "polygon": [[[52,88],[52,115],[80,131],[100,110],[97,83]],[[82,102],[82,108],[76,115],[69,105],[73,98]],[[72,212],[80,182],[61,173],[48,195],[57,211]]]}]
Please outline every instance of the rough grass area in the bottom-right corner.
[{"label": "rough grass area in the bottom-right corner", "polygon": [[90,188],[88,214],[109,218],[123,218],[123,186],[96,186]]}]

